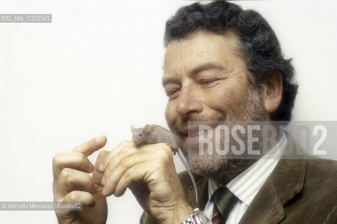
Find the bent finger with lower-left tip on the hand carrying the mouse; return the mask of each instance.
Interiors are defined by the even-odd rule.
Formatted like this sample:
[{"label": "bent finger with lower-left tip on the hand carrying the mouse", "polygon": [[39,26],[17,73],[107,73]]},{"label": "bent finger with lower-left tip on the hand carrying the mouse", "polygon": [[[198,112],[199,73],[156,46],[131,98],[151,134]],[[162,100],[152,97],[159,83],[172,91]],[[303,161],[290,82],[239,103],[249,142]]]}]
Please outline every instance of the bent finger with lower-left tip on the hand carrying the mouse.
[{"label": "bent finger with lower-left tip on the hand carrying the mouse", "polygon": [[125,172],[131,167],[134,167],[143,162],[156,162],[156,157],[153,153],[138,153],[129,157],[123,158],[117,167],[110,171],[110,164],[108,165],[106,172],[104,173],[103,182],[105,192],[103,195],[112,195],[115,192],[117,183],[120,181]]}]

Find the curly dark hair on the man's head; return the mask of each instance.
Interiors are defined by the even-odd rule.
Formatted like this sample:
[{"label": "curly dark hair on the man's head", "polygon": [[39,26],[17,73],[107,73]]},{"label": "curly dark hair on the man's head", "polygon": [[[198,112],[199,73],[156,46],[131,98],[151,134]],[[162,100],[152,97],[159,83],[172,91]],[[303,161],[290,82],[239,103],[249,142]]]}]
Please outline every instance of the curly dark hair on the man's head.
[{"label": "curly dark hair on the man's head", "polygon": [[250,80],[255,86],[264,83],[268,76],[280,72],[283,81],[282,101],[271,120],[290,120],[298,85],[294,80],[291,59],[282,55],[280,43],[271,26],[254,10],[243,10],[227,1],[213,1],[206,5],[193,3],[180,8],[166,22],[165,48],[175,39],[185,38],[196,31],[224,34],[231,31],[239,41]]}]

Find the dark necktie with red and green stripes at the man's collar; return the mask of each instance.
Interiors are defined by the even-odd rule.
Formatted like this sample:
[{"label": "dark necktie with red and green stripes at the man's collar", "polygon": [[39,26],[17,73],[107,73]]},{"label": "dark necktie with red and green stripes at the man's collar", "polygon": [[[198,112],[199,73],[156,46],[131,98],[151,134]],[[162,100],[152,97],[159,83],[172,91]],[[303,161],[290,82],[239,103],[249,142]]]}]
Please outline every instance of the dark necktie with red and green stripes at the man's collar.
[{"label": "dark necktie with red and green stripes at the man's collar", "polygon": [[212,198],[214,202],[212,223],[225,224],[238,198],[225,187],[217,188]]}]

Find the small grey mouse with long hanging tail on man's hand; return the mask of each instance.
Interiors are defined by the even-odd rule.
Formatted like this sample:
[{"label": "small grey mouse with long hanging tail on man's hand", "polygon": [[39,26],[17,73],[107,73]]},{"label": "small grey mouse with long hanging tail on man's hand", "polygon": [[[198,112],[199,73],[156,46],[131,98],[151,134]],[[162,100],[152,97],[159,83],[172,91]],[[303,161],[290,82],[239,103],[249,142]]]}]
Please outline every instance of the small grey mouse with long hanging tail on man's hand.
[{"label": "small grey mouse with long hanging tail on man's hand", "polygon": [[194,177],[192,172],[189,169],[189,166],[185,162],[184,158],[182,158],[182,154],[179,151],[177,140],[172,132],[167,130],[166,128],[159,126],[159,125],[145,125],[145,127],[135,128],[134,125],[131,125],[131,132],[132,132],[132,141],[137,146],[143,144],[157,144],[157,143],[166,143],[169,144],[172,148],[172,151],[178,153],[178,156],[181,162],[184,164],[189,177],[192,180],[196,203],[198,203],[198,191],[196,190],[196,183],[194,181]]}]

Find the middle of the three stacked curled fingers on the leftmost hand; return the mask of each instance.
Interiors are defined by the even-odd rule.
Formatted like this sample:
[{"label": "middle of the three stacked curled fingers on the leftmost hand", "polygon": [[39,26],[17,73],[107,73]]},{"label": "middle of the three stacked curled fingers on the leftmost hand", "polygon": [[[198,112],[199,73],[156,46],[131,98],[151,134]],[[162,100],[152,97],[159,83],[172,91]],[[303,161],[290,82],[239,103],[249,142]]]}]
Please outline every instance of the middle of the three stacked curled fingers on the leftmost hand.
[{"label": "middle of the three stacked curled fingers on the leftmost hand", "polygon": [[94,181],[84,172],[76,169],[64,168],[59,174],[55,188],[55,197],[64,197],[71,190],[85,190],[94,193],[96,190]]}]

